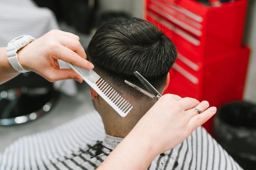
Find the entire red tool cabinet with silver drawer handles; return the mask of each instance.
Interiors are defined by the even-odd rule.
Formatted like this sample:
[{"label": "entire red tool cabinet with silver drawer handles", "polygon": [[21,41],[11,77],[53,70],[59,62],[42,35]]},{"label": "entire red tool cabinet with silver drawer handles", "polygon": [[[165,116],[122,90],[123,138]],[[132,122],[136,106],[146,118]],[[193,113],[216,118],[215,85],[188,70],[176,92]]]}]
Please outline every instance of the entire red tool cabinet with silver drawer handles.
[{"label": "entire red tool cabinet with silver drawer handles", "polygon": [[[243,46],[247,0],[218,7],[195,0],[145,0],[144,17],[173,41],[178,58],[165,93],[207,100],[243,99],[249,48]],[[213,135],[212,119],[204,124]]]}]

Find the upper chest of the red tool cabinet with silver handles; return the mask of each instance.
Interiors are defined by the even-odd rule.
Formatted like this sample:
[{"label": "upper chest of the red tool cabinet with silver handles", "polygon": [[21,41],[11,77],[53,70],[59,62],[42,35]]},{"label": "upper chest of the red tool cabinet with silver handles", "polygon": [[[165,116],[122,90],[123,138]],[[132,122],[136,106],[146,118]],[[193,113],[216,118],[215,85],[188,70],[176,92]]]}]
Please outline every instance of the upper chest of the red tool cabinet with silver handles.
[{"label": "upper chest of the red tool cabinet with silver handles", "polygon": [[146,0],[145,18],[196,62],[241,48],[247,3],[237,0],[211,7],[194,0]]}]

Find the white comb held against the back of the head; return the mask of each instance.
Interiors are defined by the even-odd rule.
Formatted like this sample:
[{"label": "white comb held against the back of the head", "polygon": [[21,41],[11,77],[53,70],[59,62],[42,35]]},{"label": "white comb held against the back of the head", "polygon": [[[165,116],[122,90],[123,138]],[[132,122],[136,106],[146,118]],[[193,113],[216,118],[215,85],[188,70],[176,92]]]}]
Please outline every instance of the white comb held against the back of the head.
[{"label": "white comb held against the back of the head", "polygon": [[117,93],[104,79],[95,71],[87,70],[83,67],[67,63],[83,80],[91,86],[121,117],[126,115],[132,109],[132,105]]}]

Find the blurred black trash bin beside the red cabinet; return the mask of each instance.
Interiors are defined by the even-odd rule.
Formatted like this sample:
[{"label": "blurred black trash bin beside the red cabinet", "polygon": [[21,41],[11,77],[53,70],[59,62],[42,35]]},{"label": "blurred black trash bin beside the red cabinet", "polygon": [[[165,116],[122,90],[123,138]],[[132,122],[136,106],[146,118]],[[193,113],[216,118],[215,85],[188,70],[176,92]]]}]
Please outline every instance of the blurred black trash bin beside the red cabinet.
[{"label": "blurred black trash bin beside the red cabinet", "polygon": [[221,106],[214,119],[216,140],[245,170],[256,170],[256,104]]}]

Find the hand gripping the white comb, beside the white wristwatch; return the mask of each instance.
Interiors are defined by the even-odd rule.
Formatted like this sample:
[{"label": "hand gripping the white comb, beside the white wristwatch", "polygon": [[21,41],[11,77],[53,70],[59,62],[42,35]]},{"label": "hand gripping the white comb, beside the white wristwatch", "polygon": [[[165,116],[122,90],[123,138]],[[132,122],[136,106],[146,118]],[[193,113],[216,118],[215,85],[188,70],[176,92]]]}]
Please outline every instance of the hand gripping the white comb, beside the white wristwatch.
[{"label": "hand gripping the white comb, beside the white wristwatch", "polygon": [[76,79],[83,82],[82,77],[75,71],[60,69],[57,60],[91,70],[94,66],[86,58],[79,37],[60,30],[49,31],[18,52],[18,60],[23,68],[34,71],[50,82],[61,79]]}]

